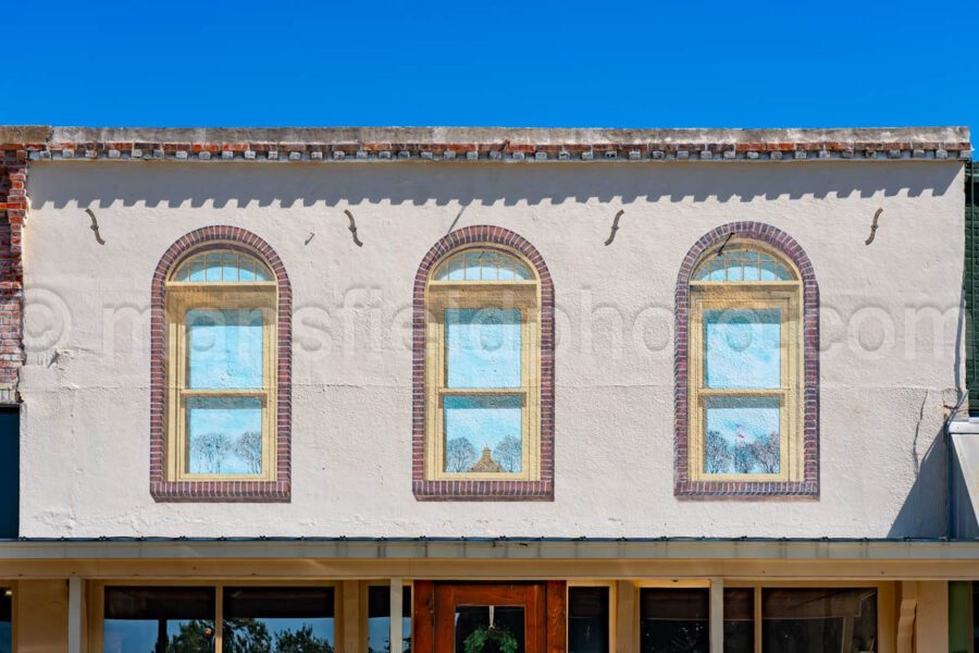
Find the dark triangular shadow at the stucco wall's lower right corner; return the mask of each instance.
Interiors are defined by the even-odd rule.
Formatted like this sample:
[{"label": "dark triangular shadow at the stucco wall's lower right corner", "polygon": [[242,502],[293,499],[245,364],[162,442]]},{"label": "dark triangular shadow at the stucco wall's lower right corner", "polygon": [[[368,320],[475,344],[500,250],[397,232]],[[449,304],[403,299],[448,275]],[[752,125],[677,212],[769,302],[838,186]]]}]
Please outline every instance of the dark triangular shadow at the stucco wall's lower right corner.
[{"label": "dark triangular shadow at the stucco wall's lower right corner", "polygon": [[947,476],[944,426],[918,467],[918,476],[897,513],[889,538],[947,535]]}]

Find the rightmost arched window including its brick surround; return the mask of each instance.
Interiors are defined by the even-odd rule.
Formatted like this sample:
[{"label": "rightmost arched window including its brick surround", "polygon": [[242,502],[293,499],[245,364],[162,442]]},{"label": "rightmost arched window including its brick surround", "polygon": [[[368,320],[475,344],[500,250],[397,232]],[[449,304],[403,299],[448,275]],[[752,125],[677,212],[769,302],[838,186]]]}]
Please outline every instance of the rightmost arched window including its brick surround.
[{"label": "rightmost arched window including its brick surround", "polygon": [[[807,405],[806,383],[816,383],[816,348],[807,346],[814,320],[805,310],[814,297],[804,297],[800,266],[778,241],[744,232],[692,250],[685,297],[678,295],[678,304],[686,301],[678,306],[678,340],[689,337],[686,379],[678,379],[686,399],[678,402],[685,410],[678,416],[685,430],[678,434],[678,490],[815,493],[815,428],[807,436],[815,403]],[[805,256],[797,245],[794,251]],[[805,267],[811,272],[807,259]]]}]

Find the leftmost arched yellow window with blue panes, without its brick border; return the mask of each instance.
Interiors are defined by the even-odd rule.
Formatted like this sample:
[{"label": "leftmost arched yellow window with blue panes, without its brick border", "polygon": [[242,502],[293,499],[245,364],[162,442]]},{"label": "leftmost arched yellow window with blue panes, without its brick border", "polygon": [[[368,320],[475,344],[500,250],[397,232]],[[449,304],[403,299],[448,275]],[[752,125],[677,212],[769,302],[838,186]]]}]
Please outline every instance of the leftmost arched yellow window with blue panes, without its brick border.
[{"label": "leftmost arched yellow window with blue panes, without its brick border", "polygon": [[274,477],[276,309],[269,269],[234,249],[207,249],[170,278],[173,480]]}]

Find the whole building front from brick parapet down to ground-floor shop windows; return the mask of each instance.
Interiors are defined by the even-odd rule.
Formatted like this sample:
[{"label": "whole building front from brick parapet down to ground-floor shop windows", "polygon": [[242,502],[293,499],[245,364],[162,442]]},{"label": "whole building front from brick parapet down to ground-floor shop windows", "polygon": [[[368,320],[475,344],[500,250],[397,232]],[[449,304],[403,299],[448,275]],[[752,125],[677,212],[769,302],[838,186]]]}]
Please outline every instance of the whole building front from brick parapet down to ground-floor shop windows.
[{"label": "whole building front from brick parapet down to ground-floor shop windows", "polygon": [[2,140],[14,650],[975,645],[967,130]]}]

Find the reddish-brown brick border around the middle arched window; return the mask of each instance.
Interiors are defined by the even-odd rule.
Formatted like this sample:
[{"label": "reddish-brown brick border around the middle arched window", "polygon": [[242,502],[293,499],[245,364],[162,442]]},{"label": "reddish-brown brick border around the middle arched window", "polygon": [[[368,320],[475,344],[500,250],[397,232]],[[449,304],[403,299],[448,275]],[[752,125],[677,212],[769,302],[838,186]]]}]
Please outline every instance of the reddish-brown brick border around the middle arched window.
[{"label": "reddish-brown brick border around the middle arched window", "polygon": [[[499,245],[520,252],[541,284],[541,479],[538,481],[425,480],[425,287],[450,252],[472,245]],[[522,236],[500,226],[454,231],[425,254],[412,289],[411,486],[419,501],[554,500],[554,282],[541,254]]]}]

